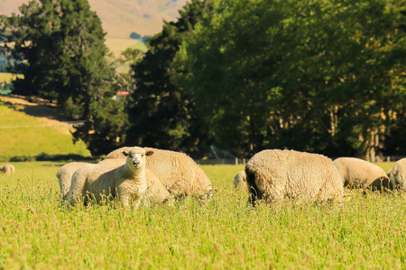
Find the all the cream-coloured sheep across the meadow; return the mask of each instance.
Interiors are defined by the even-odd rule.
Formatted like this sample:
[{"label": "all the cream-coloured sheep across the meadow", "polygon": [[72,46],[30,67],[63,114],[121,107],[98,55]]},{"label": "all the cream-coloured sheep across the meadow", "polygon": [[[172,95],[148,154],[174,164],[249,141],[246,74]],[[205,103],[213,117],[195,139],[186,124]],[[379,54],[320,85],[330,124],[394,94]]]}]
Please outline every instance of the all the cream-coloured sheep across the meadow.
[{"label": "all the cream-coloured sheep across the meadow", "polygon": [[[0,172],[14,173],[13,165]],[[208,176],[187,155],[157,148],[125,147],[109,153],[97,164],[71,162],[57,172],[60,199],[74,205],[89,200],[116,198],[125,208],[140,203],[168,202],[171,198],[196,196],[203,202],[216,189]],[[338,202],[344,187],[392,191],[406,188],[406,158],[388,173],[380,166],[355,157],[328,157],[293,150],[263,150],[252,157],[245,170],[235,175],[236,188],[244,188],[248,202]]]}]

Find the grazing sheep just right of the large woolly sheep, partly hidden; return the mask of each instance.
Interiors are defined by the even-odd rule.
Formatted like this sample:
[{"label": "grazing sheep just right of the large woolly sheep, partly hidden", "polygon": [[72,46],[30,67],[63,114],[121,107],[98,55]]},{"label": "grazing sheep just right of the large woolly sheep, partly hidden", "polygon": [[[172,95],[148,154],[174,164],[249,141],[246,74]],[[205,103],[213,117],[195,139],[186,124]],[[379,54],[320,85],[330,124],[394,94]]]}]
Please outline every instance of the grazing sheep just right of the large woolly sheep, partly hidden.
[{"label": "grazing sheep just right of the large woolly sheep, partly hidden", "polygon": [[342,176],[344,186],[355,188],[372,188],[373,190],[390,189],[392,184],[380,166],[356,157],[338,157],[334,165]]}]

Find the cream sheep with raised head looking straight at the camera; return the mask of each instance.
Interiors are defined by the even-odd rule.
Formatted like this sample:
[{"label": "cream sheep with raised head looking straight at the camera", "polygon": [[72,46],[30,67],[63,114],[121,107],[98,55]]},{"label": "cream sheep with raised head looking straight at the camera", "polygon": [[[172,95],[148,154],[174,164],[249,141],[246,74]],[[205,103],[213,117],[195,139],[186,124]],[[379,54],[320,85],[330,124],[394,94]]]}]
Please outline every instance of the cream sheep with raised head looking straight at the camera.
[{"label": "cream sheep with raised head looking straight at the camera", "polygon": [[152,154],[151,150],[138,147],[128,148],[123,151],[126,161],[122,166],[88,164],[79,167],[72,176],[68,202],[74,205],[78,199],[83,197],[87,203],[88,193],[97,202],[102,200],[103,195],[111,195],[114,198],[117,197],[125,209],[128,209],[130,198],[134,196],[134,209],[137,209],[148,188],[145,157]]}]

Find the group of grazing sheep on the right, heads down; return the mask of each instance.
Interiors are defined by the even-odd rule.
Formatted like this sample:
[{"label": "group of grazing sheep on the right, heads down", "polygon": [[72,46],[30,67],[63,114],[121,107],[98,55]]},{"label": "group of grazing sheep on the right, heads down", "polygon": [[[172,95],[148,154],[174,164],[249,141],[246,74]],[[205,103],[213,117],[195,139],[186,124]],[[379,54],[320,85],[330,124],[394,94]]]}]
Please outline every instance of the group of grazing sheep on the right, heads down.
[{"label": "group of grazing sheep on the right, heads down", "polygon": [[234,184],[250,193],[248,201],[253,204],[258,199],[277,202],[285,198],[342,203],[346,186],[380,191],[406,188],[406,158],[385,173],[380,166],[355,157],[333,161],[293,150],[263,150],[235,175]]}]

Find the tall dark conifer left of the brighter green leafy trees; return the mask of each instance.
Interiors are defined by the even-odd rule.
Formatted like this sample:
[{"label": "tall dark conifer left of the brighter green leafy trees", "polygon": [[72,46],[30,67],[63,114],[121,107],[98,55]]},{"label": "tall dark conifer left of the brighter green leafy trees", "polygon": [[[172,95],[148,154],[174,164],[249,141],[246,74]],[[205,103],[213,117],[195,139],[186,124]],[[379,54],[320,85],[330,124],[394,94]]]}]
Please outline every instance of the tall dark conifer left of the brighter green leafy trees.
[{"label": "tall dark conifer left of the brighter green leafy trees", "polygon": [[133,66],[135,90],[128,103],[130,129],[126,144],[194,151],[205,136],[193,94],[171,82],[181,70],[171,66],[180,43],[208,12],[208,1],[193,0],[180,10],[176,22],[165,23],[149,40],[149,50]]}]

